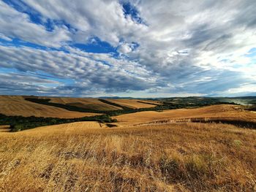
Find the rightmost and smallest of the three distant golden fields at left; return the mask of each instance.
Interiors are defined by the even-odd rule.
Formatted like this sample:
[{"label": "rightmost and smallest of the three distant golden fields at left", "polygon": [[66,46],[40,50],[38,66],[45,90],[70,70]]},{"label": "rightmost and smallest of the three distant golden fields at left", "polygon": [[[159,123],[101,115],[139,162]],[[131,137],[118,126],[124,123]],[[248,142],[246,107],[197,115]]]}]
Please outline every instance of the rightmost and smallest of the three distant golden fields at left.
[{"label": "rightmost and smallest of the three distant golden fields at left", "polygon": [[[156,105],[159,104],[156,101],[147,101],[147,100],[144,101],[139,99],[105,99],[105,100],[113,102],[115,104],[119,104],[124,107],[129,107],[132,109],[151,108],[151,107],[156,107]],[[144,101],[145,103],[140,103],[138,101]]]}]

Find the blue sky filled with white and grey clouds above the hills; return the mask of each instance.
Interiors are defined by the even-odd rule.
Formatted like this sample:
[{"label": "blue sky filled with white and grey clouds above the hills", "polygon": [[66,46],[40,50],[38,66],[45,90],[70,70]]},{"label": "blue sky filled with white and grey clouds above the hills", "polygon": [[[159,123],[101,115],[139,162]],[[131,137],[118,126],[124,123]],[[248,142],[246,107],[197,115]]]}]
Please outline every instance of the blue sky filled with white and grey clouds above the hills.
[{"label": "blue sky filled with white and grey clouds above the hills", "polygon": [[256,96],[255,0],[0,0],[0,95]]}]

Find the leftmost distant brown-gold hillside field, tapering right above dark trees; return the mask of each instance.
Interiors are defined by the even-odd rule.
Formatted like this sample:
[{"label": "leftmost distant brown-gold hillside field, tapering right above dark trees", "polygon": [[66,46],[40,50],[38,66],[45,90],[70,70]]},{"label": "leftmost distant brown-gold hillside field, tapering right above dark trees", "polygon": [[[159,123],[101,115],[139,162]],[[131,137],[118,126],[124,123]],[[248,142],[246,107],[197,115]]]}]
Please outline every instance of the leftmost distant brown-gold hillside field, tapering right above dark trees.
[{"label": "leftmost distant brown-gold hillside field, tapering right above dark trees", "polygon": [[4,115],[36,116],[45,118],[82,118],[99,115],[92,112],[73,112],[43,104],[26,101],[23,96],[0,96],[0,113]]}]

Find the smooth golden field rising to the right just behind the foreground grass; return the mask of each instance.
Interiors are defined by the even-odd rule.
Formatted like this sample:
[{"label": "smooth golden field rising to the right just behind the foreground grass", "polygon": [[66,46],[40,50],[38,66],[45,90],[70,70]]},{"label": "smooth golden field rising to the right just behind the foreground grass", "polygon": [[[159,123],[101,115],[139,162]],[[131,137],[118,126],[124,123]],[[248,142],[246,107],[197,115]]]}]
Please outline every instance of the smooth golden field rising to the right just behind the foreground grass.
[{"label": "smooth golden field rising to the right just behind the foreground grass", "polygon": [[188,118],[221,118],[235,120],[250,120],[256,122],[256,113],[241,110],[236,105],[219,104],[196,109],[165,110],[163,112],[145,111],[118,115],[120,126],[132,126],[140,123],[150,123],[157,120],[180,120]]}]

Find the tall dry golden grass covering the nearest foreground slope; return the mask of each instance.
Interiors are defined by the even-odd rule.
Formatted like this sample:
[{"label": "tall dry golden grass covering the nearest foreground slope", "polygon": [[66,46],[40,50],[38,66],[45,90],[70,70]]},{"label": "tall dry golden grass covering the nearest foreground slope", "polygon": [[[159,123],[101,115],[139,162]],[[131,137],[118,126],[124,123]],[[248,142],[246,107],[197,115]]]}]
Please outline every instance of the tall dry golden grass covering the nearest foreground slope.
[{"label": "tall dry golden grass covering the nearest foreground slope", "polygon": [[2,133],[0,191],[256,190],[255,130],[68,125]]}]

